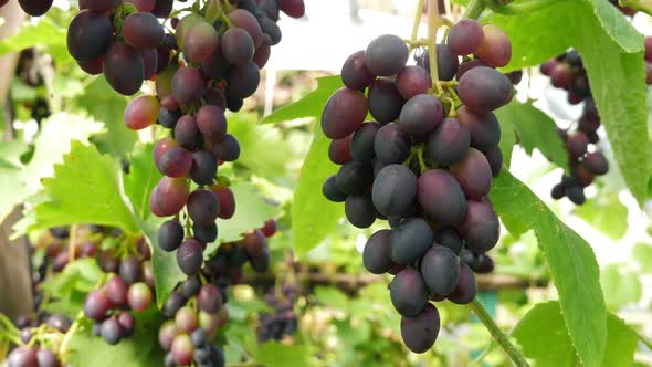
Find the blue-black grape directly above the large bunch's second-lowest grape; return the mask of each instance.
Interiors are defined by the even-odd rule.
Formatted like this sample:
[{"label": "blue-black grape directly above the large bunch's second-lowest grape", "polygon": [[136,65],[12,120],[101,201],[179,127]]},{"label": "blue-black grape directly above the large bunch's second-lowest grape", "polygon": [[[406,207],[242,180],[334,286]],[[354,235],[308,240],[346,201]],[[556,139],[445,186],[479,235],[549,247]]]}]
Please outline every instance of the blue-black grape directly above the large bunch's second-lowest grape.
[{"label": "blue-black grape directly above the large bunch's second-lowest grape", "polygon": [[404,219],[391,230],[391,260],[401,265],[411,264],[423,256],[432,240],[432,229],[427,221]]}]

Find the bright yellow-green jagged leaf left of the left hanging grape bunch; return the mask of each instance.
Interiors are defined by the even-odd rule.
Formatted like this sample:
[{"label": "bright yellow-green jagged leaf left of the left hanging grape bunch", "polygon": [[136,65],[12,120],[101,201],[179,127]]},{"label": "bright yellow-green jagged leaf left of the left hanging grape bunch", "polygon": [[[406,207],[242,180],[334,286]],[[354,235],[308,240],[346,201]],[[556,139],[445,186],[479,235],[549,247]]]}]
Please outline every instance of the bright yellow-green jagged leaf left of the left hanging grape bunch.
[{"label": "bright yellow-green jagged leaf left of the left hanging grape bunch", "polygon": [[140,228],[125,202],[118,167],[95,146],[73,140],[54,177],[43,179],[48,200],[34,209],[29,229],[48,229],[74,223],[96,223],[138,234]]}]

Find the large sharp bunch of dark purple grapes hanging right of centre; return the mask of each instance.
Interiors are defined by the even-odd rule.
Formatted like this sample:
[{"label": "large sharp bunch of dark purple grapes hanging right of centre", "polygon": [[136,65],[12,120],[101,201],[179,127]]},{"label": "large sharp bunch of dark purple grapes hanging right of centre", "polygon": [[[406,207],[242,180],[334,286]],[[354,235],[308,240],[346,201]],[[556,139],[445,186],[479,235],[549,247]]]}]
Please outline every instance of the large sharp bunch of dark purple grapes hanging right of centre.
[{"label": "large sharp bunch of dark purple grapes hanging right of centre", "polygon": [[[355,227],[388,221],[390,229],[369,238],[362,260],[371,273],[396,274],[391,301],[402,316],[403,342],[416,353],[439,334],[439,312],[429,301],[470,303],[477,287],[472,268],[493,269],[486,252],[501,228],[487,196],[502,154],[492,111],[514,94],[511,80],[495,70],[512,55],[499,28],[464,19],[446,43],[431,46],[434,88],[430,54],[407,66],[404,41],[381,35],[346,60],[346,87],[322,114],[333,139],[329,159],[341,165],[323,193],[345,202]],[[368,113],[375,120],[365,122]]]}]

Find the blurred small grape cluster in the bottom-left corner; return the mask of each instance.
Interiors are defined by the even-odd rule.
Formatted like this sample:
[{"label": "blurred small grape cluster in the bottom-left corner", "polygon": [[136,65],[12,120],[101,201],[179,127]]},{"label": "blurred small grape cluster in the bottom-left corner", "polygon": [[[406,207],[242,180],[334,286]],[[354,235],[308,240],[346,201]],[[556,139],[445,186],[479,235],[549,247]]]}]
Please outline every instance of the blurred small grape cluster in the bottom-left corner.
[{"label": "blurred small grape cluster in the bottom-left corner", "polygon": [[72,321],[64,315],[41,314],[31,319],[19,316],[15,326],[20,329],[23,345],[7,356],[8,367],[59,367],[59,346]]}]

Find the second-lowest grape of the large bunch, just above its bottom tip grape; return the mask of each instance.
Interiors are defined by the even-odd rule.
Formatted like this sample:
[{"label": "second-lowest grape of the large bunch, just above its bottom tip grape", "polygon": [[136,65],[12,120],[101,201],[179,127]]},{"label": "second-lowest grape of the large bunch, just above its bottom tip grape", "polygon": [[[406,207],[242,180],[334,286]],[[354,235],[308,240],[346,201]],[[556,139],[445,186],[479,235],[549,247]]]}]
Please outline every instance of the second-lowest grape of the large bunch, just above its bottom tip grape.
[{"label": "second-lowest grape of the large bunch, just above its bottom tip grape", "polygon": [[428,291],[421,273],[407,268],[400,271],[389,284],[393,307],[402,316],[414,317],[428,303]]}]

